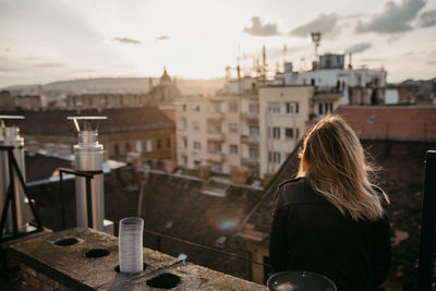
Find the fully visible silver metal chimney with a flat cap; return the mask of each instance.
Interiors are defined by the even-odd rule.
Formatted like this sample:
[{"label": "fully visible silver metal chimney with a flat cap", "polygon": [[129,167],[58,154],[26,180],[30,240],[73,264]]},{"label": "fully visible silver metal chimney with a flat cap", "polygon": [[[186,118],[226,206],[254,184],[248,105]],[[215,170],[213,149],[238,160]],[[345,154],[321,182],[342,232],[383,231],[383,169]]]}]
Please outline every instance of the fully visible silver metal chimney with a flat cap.
[{"label": "fully visible silver metal chimney with a flat cap", "polygon": [[[74,146],[75,170],[102,170],[104,150],[98,143],[97,124],[106,117],[69,117],[78,132],[78,144]],[[82,128],[78,122],[82,122]],[[86,199],[86,179],[75,178],[76,222],[78,228],[93,228],[105,231],[105,190],[102,173],[90,180],[92,226],[88,225],[88,206]]]}]

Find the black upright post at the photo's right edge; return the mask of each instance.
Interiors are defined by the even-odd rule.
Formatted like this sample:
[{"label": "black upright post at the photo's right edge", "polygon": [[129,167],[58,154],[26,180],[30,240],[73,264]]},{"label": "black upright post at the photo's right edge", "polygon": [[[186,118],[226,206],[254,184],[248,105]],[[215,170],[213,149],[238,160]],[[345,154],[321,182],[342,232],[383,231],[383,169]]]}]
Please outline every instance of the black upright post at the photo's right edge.
[{"label": "black upright post at the photo's right edge", "polygon": [[427,150],[425,159],[425,179],[423,215],[421,227],[419,291],[432,290],[435,255],[436,219],[436,150]]}]

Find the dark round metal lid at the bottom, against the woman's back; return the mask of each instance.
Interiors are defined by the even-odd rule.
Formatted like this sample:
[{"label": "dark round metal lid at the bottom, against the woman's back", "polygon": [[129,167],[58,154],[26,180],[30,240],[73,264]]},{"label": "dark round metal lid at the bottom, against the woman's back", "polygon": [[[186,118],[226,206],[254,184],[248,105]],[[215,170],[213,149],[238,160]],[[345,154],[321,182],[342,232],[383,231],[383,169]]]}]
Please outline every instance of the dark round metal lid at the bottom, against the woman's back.
[{"label": "dark round metal lid at the bottom, against the woman's back", "polygon": [[337,291],[335,282],[329,278],[306,270],[278,272],[268,279],[267,287],[270,291]]}]

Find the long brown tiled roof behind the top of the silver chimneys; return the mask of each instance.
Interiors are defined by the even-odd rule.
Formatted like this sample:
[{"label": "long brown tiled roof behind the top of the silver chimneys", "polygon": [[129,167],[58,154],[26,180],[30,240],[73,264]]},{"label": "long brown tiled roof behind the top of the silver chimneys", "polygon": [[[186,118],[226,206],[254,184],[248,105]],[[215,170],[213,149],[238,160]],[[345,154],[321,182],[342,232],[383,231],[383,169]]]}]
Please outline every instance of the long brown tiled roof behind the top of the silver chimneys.
[{"label": "long brown tiled roof behind the top of the silver chimneys", "polygon": [[14,111],[12,114],[24,116],[26,119],[19,123],[24,134],[75,134],[73,122],[66,117],[105,116],[99,125],[100,133],[132,132],[158,129],[174,129],[175,124],[156,107],[113,108],[87,110],[48,110],[48,111]]}]

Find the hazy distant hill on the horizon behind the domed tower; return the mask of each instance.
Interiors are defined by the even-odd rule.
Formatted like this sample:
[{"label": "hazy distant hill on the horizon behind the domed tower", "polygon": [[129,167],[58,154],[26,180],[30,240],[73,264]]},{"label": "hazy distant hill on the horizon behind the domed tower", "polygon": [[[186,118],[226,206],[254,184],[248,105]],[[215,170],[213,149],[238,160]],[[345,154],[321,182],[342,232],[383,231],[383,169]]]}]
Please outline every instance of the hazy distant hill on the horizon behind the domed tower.
[{"label": "hazy distant hill on the horizon behind the domed tower", "polygon": [[[11,86],[8,89],[12,95],[44,93],[47,97],[57,98],[63,94],[82,93],[147,93],[149,77],[104,77],[84,78],[48,83],[46,85]],[[153,77],[153,85],[157,85],[159,78]],[[183,95],[213,94],[225,84],[225,78],[190,80],[177,78],[175,83]]]}]

